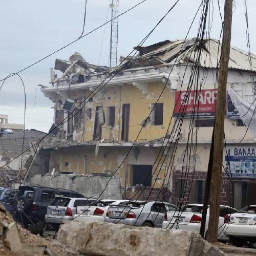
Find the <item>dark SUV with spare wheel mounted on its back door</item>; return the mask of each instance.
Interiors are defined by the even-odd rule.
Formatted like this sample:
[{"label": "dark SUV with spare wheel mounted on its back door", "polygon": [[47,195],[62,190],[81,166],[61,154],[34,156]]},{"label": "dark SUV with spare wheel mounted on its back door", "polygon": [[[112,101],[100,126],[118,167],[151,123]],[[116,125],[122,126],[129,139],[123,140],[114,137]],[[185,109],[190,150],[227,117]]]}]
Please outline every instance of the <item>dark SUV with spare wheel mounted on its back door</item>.
[{"label": "dark SUV with spare wheel mounted on its back door", "polygon": [[25,227],[29,224],[30,226],[38,223],[43,224],[47,207],[56,196],[84,198],[82,194],[68,189],[20,186],[13,202],[15,219]]}]

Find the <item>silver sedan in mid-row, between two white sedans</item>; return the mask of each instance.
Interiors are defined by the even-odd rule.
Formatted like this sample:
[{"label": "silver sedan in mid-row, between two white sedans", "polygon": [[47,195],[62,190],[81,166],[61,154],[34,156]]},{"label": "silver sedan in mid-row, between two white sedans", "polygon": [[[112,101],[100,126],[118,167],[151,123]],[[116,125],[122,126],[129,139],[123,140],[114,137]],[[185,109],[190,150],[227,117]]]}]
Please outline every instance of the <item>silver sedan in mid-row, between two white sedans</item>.
[{"label": "silver sedan in mid-row, between two white sedans", "polygon": [[162,227],[163,217],[167,211],[177,207],[165,202],[129,201],[122,205],[109,205],[106,222],[121,223],[132,226]]}]

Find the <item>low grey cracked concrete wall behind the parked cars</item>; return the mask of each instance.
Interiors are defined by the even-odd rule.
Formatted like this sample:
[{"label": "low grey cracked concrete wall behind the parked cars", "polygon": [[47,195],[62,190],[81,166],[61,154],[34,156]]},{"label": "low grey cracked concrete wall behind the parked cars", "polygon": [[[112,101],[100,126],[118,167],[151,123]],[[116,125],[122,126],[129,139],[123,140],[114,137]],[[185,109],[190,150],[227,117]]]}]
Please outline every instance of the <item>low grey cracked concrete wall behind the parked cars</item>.
[{"label": "low grey cracked concrete wall behind the parked cars", "polygon": [[[98,198],[109,181],[109,177],[100,176],[74,176],[59,174],[52,176],[50,174],[32,175],[30,176],[24,185],[36,185],[47,187],[57,187],[75,190],[87,197]],[[120,188],[120,177],[113,177],[104,193],[100,196],[101,199],[122,199]]]}]

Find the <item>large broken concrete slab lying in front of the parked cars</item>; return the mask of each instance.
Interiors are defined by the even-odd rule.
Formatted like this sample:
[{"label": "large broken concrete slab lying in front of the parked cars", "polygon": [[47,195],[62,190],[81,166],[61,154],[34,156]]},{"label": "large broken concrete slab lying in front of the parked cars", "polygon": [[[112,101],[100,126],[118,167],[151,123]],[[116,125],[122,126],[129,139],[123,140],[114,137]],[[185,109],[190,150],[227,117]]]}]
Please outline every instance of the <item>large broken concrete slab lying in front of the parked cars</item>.
[{"label": "large broken concrete slab lying in front of the parked cars", "polygon": [[58,242],[97,255],[225,255],[193,231],[72,221],[61,225]]}]

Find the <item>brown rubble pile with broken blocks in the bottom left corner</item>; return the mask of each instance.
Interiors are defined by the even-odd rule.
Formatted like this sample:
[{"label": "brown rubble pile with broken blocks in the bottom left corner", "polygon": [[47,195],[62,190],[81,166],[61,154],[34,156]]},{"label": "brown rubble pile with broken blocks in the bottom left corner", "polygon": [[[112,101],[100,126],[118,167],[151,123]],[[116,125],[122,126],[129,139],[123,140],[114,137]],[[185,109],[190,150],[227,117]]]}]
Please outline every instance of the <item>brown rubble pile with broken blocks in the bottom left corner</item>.
[{"label": "brown rubble pile with broken blocks in the bottom left corner", "polygon": [[67,256],[72,255],[44,238],[35,236],[12,219],[0,204],[0,255],[3,256]]}]

